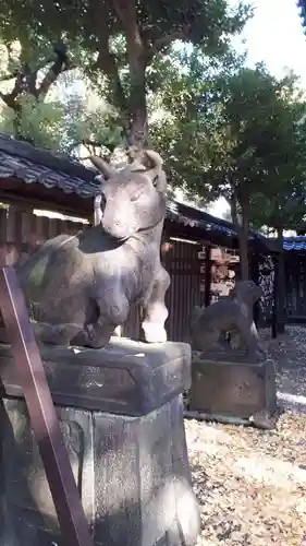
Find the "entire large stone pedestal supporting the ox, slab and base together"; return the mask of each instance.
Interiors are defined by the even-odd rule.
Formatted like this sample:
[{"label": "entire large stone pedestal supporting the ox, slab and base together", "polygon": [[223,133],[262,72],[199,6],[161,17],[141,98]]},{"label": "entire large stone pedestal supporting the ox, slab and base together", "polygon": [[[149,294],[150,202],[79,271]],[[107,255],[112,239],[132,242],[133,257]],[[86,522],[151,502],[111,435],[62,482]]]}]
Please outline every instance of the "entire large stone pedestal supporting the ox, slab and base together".
[{"label": "entire large stone pedestal supporting the ox, slab and base together", "polygon": [[[193,546],[182,392],[191,347],[113,339],[103,349],[41,347],[97,546]],[[64,546],[10,347],[0,345],[0,544]]]}]

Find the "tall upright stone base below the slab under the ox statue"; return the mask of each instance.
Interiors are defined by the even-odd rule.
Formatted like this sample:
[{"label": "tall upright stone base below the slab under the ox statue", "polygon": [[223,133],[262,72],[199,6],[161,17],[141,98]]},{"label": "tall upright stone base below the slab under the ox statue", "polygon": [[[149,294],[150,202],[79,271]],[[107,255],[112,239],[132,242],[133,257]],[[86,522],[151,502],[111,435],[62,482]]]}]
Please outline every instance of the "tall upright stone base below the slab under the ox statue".
[{"label": "tall upright stone base below the slab under the ox statue", "polygon": [[[66,546],[26,406],[0,408],[1,546]],[[145,416],[57,407],[96,546],[193,546],[192,489],[182,396]]]}]

